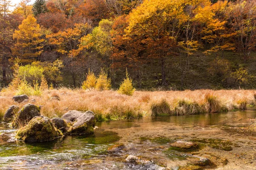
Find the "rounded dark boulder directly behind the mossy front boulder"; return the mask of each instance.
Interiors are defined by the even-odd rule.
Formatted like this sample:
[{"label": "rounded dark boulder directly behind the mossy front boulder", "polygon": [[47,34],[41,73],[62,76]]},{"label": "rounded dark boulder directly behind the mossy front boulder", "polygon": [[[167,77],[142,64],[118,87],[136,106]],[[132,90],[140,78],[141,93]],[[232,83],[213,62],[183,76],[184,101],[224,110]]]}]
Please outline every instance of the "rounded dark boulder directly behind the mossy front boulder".
[{"label": "rounded dark boulder directly behind the mossy front boulder", "polygon": [[12,126],[22,127],[35,116],[41,116],[40,107],[31,103],[26,104],[18,111],[18,113],[15,114]]}]

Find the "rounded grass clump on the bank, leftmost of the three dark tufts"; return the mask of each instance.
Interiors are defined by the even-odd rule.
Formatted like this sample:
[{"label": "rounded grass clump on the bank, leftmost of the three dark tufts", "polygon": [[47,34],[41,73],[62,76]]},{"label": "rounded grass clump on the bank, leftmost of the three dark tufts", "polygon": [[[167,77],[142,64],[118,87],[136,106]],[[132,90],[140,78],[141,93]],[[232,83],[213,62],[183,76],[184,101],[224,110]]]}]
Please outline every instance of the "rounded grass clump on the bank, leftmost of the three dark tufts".
[{"label": "rounded grass clump on the bank, leftmost of the three dark tufts", "polygon": [[171,114],[170,105],[165,99],[160,102],[153,102],[150,106],[151,116],[169,115]]}]

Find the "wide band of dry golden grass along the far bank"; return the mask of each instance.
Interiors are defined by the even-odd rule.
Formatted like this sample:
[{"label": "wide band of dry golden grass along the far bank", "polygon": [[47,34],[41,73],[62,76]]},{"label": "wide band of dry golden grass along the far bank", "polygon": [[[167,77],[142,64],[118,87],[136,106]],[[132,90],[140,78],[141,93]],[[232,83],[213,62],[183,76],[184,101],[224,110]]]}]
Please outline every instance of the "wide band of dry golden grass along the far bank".
[{"label": "wide band of dry golden grass along the far bank", "polygon": [[[221,108],[209,108],[206,98],[209,94],[215,96]],[[116,91],[85,91],[82,89],[71,90],[68,88],[44,91],[42,96],[29,96],[35,99],[34,104],[41,105],[41,114],[48,117],[61,117],[70,110],[87,111],[96,113],[98,121],[107,119],[132,119],[142,115],[151,114],[151,106],[160,103],[163,99],[175,110],[177,100],[192,101],[200,106],[208,106],[209,112],[230,111],[241,108],[241,103],[254,103],[253,90],[195,90],[195,91],[135,91],[133,96],[118,94]],[[19,105],[12,101],[15,91],[3,91],[0,93],[0,119],[10,105]],[[60,100],[50,100],[51,96],[59,96]],[[246,101],[244,101],[246,100]],[[241,102],[243,101],[243,102]],[[216,102],[216,101],[215,101]],[[186,107],[181,105],[180,107]],[[195,108],[189,106],[190,108]],[[212,106],[213,107],[213,106]],[[217,107],[214,105],[214,107]],[[185,109],[186,108],[180,108]],[[213,110],[215,109],[215,110]],[[197,113],[197,111],[191,111]],[[174,111],[175,114],[175,111]],[[184,113],[183,113],[184,114]],[[186,114],[186,113],[185,113]],[[187,113],[190,114],[190,113]]]}]

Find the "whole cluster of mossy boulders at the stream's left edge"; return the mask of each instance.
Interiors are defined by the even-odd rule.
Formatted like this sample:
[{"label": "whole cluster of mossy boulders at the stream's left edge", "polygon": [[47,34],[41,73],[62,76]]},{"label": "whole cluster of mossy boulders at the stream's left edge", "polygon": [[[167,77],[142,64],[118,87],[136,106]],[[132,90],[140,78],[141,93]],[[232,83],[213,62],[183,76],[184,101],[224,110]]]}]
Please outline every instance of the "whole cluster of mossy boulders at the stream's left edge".
[{"label": "whole cluster of mossy boulders at the stream's left edge", "polygon": [[[19,97],[15,96],[15,99],[22,102],[21,99],[18,100]],[[76,135],[94,133],[96,119],[92,111],[69,111],[62,118],[49,119],[41,116],[41,108],[31,103],[18,110],[18,106],[12,105],[4,114],[5,122],[12,121],[12,126],[19,128],[15,136],[18,140],[44,142],[61,137],[63,133]]]}]

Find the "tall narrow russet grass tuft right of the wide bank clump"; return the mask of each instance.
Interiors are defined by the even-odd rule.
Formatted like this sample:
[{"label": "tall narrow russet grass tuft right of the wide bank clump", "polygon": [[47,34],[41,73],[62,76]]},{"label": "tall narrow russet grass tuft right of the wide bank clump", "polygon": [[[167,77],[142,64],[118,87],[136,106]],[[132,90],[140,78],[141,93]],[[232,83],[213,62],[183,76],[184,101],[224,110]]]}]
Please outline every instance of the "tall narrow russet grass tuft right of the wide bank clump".
[{"label": "tall narrow russet grass tuft right of the wide bank clump", "polygon": [[218,100],[217,96],[214,96],[213,94],[206,94],[204,108],[206,113],[220,112],[221,102]]}]

